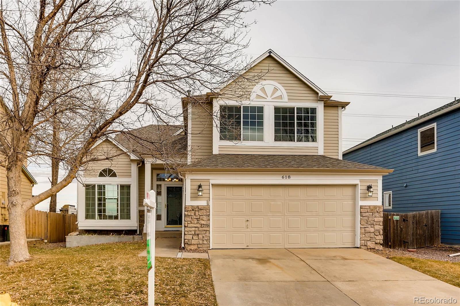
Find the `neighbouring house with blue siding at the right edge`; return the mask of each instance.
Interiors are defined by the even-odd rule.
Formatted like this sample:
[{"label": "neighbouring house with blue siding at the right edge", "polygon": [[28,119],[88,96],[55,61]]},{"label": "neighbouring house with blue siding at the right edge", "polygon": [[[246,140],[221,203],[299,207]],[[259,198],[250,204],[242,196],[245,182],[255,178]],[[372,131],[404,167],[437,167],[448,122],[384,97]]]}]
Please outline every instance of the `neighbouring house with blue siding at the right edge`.
[{"label": "neighbouring house with blue siding at the right edge", "polygon": [[394,169],[382,180],[384,211],[441,210],[441,242],[460,244],[460,99],[346,150],[343,159]]}]

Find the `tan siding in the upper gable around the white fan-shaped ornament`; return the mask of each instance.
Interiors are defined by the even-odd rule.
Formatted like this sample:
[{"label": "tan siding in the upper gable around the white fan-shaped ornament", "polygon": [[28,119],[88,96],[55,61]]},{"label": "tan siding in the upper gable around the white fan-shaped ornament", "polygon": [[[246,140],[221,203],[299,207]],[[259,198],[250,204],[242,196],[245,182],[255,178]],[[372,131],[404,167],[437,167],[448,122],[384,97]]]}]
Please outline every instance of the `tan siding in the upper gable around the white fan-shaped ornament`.
[{"label": "tan siding in the upper gable around the white fan-shaped ornament", "polygon": [[220,93],[230,99],[249,100],[250,93],[257,83],[271,80],[283,86],[288,94],[289,102],[318,102],[318,93],[284,68],[274,57],[265,57],[245,72],[243,76],[251,78],[250,81],[236,79],[236,81],[225,86]]}]

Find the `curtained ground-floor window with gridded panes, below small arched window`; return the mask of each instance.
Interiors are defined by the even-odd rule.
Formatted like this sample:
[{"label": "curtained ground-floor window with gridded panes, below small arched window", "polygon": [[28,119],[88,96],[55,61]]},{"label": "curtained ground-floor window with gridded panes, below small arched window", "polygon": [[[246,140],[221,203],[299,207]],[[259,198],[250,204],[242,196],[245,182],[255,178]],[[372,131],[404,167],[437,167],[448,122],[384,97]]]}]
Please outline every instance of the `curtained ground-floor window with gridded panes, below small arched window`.
[{"label": "curtained ground-floor window with gridded panes, below small arched window", "polygon": [[130,220],[131,186],[118,184],[86,185],[85,219]]}]

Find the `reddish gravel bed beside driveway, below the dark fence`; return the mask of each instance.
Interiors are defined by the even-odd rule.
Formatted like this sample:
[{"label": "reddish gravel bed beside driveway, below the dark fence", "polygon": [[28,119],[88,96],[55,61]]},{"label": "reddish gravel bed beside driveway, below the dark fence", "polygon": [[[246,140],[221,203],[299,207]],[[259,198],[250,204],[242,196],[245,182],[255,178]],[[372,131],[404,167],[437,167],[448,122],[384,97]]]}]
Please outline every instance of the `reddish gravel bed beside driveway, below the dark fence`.
[{"label": "reddish gravel bed beside driveway, below the dark fence", "polygon": [[422,259],[434,259],[437,261],[460,262],[460,255],[450,257],[450,254],[460,253],[460,248],[439,244],[428,248],[416,249],[415,252],[409,252],[407,249],[388,249],[372,250],[371,252],[380,256],[389,258],[393,256],[407,256]]}]

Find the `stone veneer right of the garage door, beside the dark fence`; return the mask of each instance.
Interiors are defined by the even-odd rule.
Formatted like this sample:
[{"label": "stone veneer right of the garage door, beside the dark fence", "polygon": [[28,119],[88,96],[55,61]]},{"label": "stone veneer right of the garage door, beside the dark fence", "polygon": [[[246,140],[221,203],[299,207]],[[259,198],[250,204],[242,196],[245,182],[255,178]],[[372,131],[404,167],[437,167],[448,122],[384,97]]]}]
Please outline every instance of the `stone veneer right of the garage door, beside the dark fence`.
[{"label": "stone veneer right of the garage door, beside the dark fence", "polygon": [[362,205],[359,207],[359,245],[363,249],[382,249],[383,206]]}]

